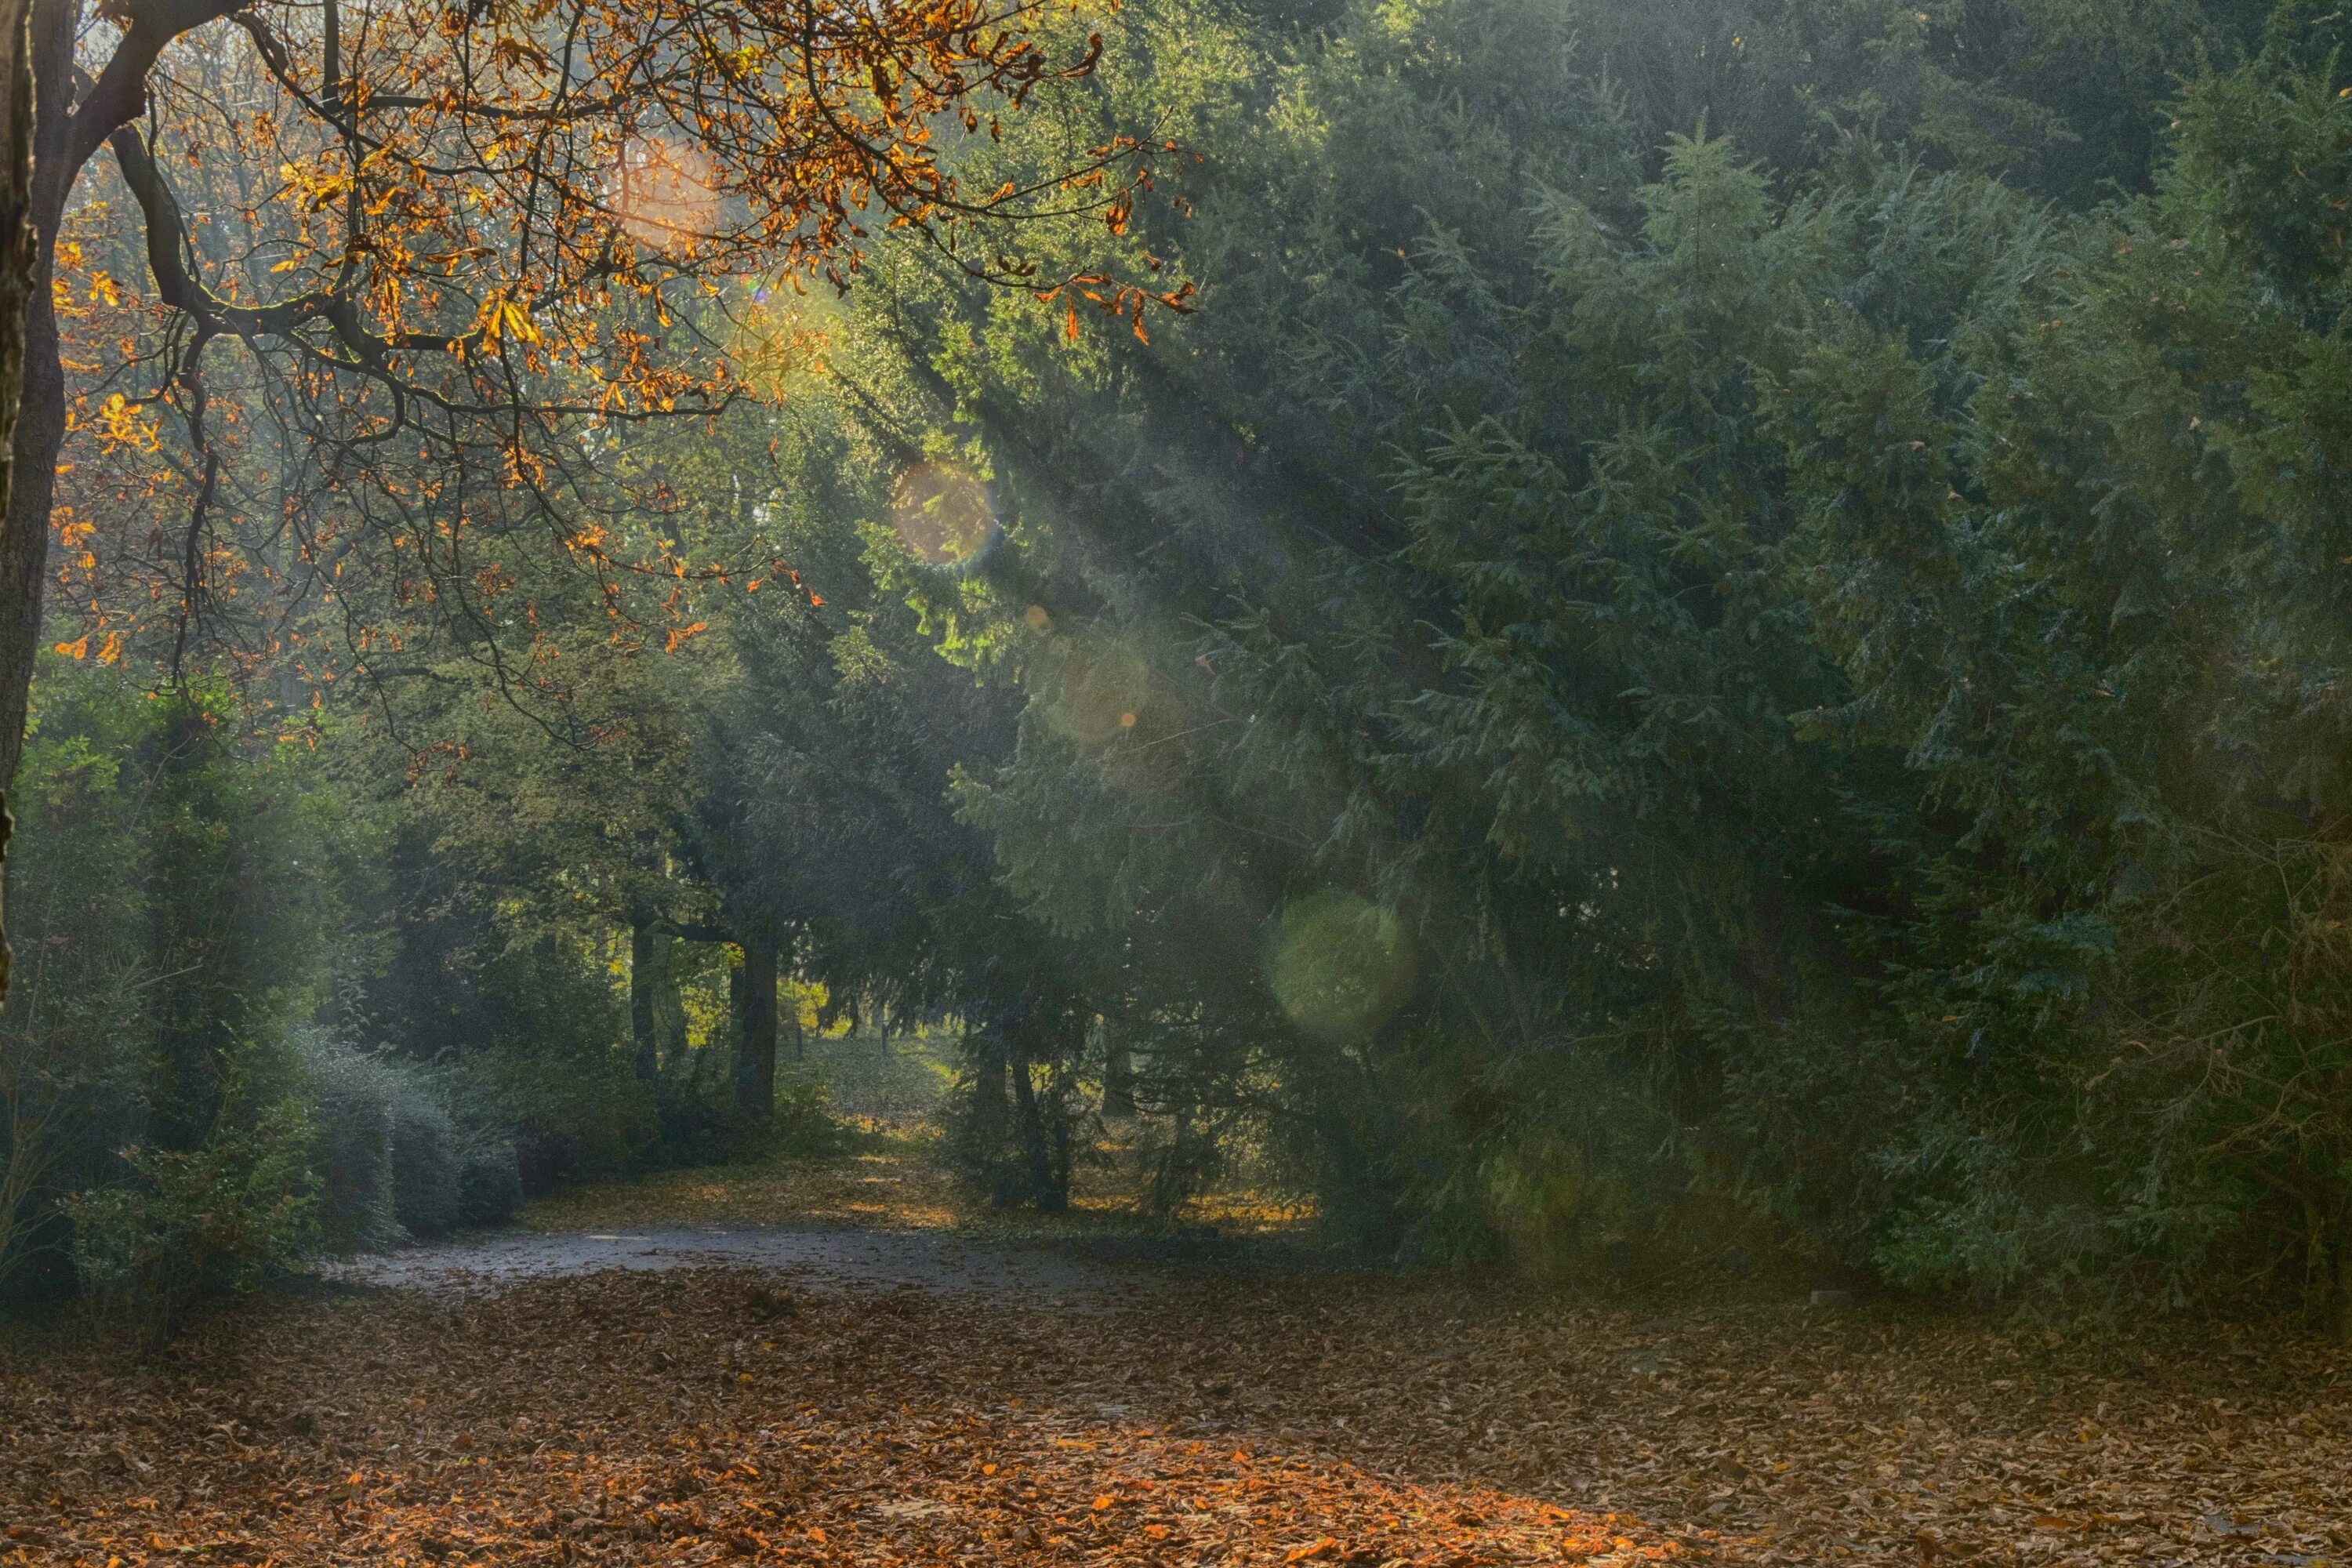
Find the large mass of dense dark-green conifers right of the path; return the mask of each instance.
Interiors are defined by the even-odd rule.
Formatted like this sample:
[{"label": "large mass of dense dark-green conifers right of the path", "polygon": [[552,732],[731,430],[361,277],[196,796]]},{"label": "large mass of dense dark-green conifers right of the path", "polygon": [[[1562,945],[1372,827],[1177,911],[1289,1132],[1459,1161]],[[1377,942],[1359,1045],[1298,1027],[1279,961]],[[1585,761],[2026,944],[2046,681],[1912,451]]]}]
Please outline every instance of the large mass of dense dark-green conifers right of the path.
[{"label": "large mass of dense dark-green conifers right of the path", "polygon": [[1162,1105],[1355,1246],[2352,1298],[2336,26],[1134,21],[1200,315],[861,320]]}]

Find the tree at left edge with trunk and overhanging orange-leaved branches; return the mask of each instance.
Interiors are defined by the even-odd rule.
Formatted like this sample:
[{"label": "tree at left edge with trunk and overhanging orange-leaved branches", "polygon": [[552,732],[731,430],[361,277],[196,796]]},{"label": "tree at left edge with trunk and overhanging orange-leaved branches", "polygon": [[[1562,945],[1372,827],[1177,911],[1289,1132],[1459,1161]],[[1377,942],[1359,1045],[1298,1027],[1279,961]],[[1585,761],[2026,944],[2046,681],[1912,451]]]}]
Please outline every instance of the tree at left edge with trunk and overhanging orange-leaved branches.
[{"label": "tree at left edge with trunk and overhanging orange-leaved branches", "polygon": [[[1056,52],[1040,21],[1042,0],[0,0],[19,54],[14,73],[0,59],[19,85],[0,132],[31,143],[0,158],[24,214],[0,179],[0,235],[21,235],[0,256],[0,376],[7,327],[24,353],[0,780],[24,745],[73,402],[61,233],[101,150],[153,273],[132,407],[176,428],[155,529],[186,639],[240,527],[315,559],[336,529],[393,520],[440,541],[454,583],[468,520],[534,520],[593,557],[586,512],[614,503],[588,484],[581,428],[741,393],[724,357],[670,353],[680,294],[713,280],[847,287],[901,228],[974,275],[1056,287],[990,235],[1089,209],[1117,230],[1150,181],[1138,143],[985,195],[938,146],[1091,71],[1098,38]],[[263,487],[223,473],[238,437],[207,390],[223,355],[285,437]]]}]

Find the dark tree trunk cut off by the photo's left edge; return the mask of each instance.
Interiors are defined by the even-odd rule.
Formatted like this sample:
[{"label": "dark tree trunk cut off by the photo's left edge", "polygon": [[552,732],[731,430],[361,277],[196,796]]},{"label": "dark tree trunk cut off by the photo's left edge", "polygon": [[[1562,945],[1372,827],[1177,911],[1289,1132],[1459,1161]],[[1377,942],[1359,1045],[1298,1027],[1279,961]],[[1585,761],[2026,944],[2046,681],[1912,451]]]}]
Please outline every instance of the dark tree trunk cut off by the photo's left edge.
[{"label": "dark tree trunk cut off by the photo's left edge", "polygon": [[[47,287],[49,237],[64,190],[45,216],[35,205],[42,193],[35,190],[33,155],[42,132],[66,129],[71,103],[61,87],[73,59],[73,16],[54,0],[40,9],[45,26],[35,35],[33,0],[0,0],[0,872],[14,830],[7,790],[24,755],[33,649],[40,646],[49,494],[56,487],[56,449],[66,440],[64,369]],[[40,393],[31,400],[33,418],[24,421],[19,407],[26,402],[28,367],[40,378]],[[28,435],[38,440],[19,458],[19,442]],[[24,484],[16,484],[19,473]],[[31,527],[26,520],[33,520]],[[7,922],[0,919],[0,1001],[7,1001],[9,969]]]}]

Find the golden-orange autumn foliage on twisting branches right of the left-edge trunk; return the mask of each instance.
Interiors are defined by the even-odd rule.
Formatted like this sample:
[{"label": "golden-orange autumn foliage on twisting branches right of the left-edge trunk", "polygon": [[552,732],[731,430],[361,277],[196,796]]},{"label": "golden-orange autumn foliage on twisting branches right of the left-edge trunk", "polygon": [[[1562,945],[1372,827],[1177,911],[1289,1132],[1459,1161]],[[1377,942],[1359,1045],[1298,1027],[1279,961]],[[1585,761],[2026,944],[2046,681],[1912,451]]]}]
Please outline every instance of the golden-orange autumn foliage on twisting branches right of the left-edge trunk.
[{"label": "golden-orange autumn foliage on twisting branches right of the left-edge trunk", "polygon": [[957,143],[1096,66],[1101,38],[1040,0],[134,0],[94,28],[73,158],[113,167],[56,226],[49,576],[82,630],[155,625],[174,656],[301,642],[325,670],[421,621],[482,639],[524,550],[595,574],[614,639],[677,649],[687,588],[786,567],[696,557],[633,454],[771,388],[779,324],[731,320],[847,289],[887,235],[1136,331],[1185,308],[1042,277],[1016,240],[1117,233],[1138,141],[957,179]]}]

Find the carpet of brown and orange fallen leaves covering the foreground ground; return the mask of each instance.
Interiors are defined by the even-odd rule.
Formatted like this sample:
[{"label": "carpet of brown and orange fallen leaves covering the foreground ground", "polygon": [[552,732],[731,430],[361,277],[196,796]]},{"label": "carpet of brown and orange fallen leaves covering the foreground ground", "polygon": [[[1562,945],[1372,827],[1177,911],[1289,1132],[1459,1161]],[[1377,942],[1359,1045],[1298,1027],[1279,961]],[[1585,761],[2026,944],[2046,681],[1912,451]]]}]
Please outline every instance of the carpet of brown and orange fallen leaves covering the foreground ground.
[{"label": "carpet of brown and orange fallen leaves covering the foreground ground", "polygon": [[2352,1561],[2352,1359],[1134,1272],[245,1302],[0,1349],[0,1561]]}]

